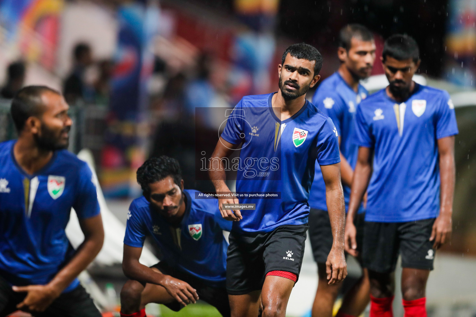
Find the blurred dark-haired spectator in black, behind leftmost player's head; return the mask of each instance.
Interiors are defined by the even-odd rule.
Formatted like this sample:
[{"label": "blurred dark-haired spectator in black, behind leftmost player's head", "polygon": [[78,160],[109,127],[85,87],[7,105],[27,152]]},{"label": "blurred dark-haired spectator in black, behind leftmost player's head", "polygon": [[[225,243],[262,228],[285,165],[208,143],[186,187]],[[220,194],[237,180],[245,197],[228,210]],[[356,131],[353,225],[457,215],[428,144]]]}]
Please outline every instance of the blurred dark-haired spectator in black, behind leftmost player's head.
[{"label": "blurred dark-haired spectator in black, behind leftmost player's head", "polygon": [[79,43],[73,50],[74,66],[66,78],[63,94],[69,104],[74,104],[79,99],[92,101],[94,91],[84,81],[85,70],[93,63],[92,51],[88,44]]}]

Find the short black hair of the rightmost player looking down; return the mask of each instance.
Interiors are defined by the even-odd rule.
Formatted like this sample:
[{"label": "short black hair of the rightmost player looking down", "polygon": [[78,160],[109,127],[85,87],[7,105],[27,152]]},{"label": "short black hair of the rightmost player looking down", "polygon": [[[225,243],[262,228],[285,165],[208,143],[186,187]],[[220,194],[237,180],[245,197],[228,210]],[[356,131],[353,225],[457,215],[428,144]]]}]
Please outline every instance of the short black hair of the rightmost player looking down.
[{"label": "short black hair of the rightmost player looking down", "polygon": [[382,52],[384,62],[387,56],[397,60],[411,58],[416,63],[420,59],[420,50],[417,41],[411,36],[394,34],[385,41]]}]

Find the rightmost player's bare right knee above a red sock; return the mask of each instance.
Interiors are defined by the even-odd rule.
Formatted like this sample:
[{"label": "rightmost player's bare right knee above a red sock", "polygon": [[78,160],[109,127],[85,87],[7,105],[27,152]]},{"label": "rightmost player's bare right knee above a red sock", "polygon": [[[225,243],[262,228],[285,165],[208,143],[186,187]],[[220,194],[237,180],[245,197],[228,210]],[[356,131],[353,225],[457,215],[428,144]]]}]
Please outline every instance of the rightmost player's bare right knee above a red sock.
[{"label": "rightmost player's bare right knee above a red sock", "polygon": [[426,296],[426,281],[430,271],[427,269],[402,270],[402,297],[405,300],[415,300]]}]

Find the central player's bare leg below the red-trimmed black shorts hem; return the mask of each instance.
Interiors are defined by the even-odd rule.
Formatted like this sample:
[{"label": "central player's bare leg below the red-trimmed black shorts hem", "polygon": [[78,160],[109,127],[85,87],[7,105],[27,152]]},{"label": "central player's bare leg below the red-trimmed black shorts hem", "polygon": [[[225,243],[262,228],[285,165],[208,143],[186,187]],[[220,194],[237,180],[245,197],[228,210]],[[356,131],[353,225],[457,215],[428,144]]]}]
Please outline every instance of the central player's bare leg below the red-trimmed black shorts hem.
[{"label": "central player's bare leg below the red-trimmed black shorts hem", "polygon": [[268,275],[261,291],[262,317],[285,317],[293,287],[291,279]]}]

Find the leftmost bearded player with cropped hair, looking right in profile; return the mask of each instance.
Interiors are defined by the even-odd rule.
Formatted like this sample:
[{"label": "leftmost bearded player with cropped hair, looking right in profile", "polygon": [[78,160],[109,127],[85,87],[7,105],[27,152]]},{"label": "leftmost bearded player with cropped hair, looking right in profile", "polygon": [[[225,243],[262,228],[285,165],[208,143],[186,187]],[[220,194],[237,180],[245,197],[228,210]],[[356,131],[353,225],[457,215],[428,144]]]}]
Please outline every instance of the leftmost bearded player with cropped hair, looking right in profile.
[{"label": "leftmost bearded player with cropped hair, looking right in profile", "polygon": [[[0,144],[0,316],[100,317],[77,276],[102,247],[95,181],[68,147],[71,119],[59,92],[22,88],[11,103],[18,139]],[[85,239],[74,250],[71,207]]]}]

